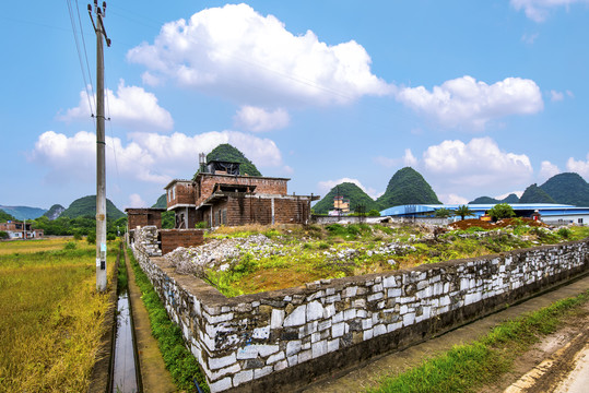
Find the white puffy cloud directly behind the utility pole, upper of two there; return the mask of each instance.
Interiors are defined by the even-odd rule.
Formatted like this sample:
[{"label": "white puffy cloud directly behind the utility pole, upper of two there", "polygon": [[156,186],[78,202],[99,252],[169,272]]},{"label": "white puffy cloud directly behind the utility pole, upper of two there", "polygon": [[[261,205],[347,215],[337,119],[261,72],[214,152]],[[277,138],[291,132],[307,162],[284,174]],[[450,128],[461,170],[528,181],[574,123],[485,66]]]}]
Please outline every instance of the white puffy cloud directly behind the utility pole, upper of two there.
[{"label": "white puffy cloud directly behind the utility pole, upper of two there", "polygon": [[[148,93],[143,87],[126,86],[120,80],[117,92],[105,91],[105,106],[113,124],[121,126],[138,131],[158,130],[170,131],[174,127],[172,115],[157,104],[157,97]],[[92,103],[95,99],[92,98]],[[96,110],[93,105],[93,110]],[[96,115],[96,114],[94,114]],[[59,120],[86,120],[91,116],[89,97],[85,91],[80,92],[80,103],[75,108],[70,108],[64,115],[58,115]]]}]

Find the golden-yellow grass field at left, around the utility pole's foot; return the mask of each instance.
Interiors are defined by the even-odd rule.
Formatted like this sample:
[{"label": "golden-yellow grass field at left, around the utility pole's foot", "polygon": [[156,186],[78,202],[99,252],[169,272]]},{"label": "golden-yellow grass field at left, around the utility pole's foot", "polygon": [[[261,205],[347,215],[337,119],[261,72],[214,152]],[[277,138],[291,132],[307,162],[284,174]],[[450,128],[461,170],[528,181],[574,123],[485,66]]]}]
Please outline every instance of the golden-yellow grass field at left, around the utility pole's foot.
[{"label": "golden-yellow grass field at left, around the utility pole's foot", "polygon": [[0,242],[0,392],[86,391],[107,300],[96,293],[94,245]]}]

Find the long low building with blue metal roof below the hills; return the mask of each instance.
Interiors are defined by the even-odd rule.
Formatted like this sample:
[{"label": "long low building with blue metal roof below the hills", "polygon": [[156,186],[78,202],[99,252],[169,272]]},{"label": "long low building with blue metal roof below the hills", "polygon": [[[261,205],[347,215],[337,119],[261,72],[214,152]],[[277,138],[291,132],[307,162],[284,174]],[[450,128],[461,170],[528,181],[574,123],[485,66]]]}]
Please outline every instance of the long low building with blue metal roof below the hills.
[{"label": "long low building with blue metal roof below the hills", "polygon": [[[483,216],[495,204],[469,204],[469,209],[474,213],[470,218]],[[588,224],[589,207],[579,207],[557,203],[509,203],[519,217],[531,217],[534,212],[540,213],[541,219],[545,223],[561,224]],[[439,209],[456,211],[462,204],[415,204],[400,205],[385,209],[381,216],[391,217],[433,217]]]}]

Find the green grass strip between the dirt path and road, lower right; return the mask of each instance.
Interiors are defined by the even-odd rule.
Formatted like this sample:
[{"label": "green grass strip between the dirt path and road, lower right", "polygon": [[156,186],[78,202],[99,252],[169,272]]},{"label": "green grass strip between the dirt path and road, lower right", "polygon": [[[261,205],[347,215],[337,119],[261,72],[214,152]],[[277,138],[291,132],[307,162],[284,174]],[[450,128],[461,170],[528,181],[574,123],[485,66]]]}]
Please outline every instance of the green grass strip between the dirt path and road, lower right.
[{"label": "green grass strip between the dirt path and road, lower right", "polygon": [[474,392],[508,371],[514,360],[563,319],[589,301],[589,290],[496,326],[485,337],[424,361],[397,377],[384,379],[369,393]]}]

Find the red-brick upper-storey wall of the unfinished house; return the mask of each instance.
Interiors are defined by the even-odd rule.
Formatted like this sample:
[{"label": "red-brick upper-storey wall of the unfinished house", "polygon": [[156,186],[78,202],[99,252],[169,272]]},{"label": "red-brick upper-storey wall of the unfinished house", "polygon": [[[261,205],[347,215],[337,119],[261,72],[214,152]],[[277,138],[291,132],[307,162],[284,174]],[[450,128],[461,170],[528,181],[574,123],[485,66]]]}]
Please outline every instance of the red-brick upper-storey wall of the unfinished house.
[{"label": "red-brick upper-storey wall of the unfinished house", "polygon": [[257,194],[286,195],[288,179],[267,178],[252,176],[231,176],[231,175],[210,175],[202,174],[197,178],[196,203],[201,204],[207,198],[211,196],[215,184],[238,184],[255,186]]}]

